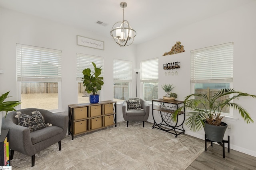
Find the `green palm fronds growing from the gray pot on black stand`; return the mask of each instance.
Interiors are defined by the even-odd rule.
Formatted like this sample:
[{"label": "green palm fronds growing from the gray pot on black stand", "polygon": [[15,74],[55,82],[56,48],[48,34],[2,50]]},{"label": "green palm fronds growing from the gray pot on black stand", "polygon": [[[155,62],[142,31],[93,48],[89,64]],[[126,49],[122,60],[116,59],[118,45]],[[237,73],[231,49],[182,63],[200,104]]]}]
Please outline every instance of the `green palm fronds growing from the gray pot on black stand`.
[{"label": "green palm fronds growing from the gray pot on black stand", "polygon": [[[224,98],[224,96],[231,96]],[[250,114],[239,104],[233,102],[234,99],[239,99],[242,96],[250,96],[256,98],[255,95],[238,92],[234,89],[221,89],[216,92],[213,96],[208,94],[191,94],[187,96],[184,100],[184,106],[177,109],[173,114],[173,119],[176,120],[178,113],[185,107],[190,109],[188,119],[186,119],[185,124],[190,127],[192,131],[199,131],[204,127],[204,123],[209,123],[210,125],[220,126],[221,120],[224,116],[221,115],[222,109],[227,106],[230,108],[237,109],[246,123],[254,122],[250,117]],[[190,99],[191,97],[195,97]],[[202,108],[198,105],[201,104]]]}]

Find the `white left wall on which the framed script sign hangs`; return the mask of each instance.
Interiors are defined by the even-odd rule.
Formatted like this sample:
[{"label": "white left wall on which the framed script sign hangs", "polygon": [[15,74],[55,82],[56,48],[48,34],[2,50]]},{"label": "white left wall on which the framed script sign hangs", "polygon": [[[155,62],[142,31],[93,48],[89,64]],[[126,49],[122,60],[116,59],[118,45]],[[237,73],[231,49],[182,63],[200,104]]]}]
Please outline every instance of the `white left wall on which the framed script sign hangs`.
[{"label": "white left wall on which the framed script sign hangs", "polygon": [[[78,46],[76,35],[104,41],[105,49]],[[4,74],[0,74],[0,93],[10,91],[10,100],[18,100],[16,43],[62,51],[61,109],[66,114],[68,104],[75,104],[77,98],[76,53],[104,57],[104,86],[101,100],[113,100],[113,59],[130,60],[135,63],[135,45],[122,48],[110,37],[102,37],[81,28],[0,8],[0,70],[4,70]],[[133,76],[136,81],[136,74]],[[136,95],[135,91],[133,95]],[[117,116],[121,121],[120,111]]]}]

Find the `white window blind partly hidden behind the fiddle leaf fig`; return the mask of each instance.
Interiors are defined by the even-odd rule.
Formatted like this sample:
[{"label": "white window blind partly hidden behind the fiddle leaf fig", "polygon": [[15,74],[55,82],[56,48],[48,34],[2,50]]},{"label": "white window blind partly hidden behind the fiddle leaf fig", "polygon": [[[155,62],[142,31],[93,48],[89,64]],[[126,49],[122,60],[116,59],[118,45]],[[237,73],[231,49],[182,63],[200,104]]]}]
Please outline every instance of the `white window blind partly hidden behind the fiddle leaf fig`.
[{"label": "white window blind partly hidden behind the fiddle leaf fig", "polygon": [[83,70],[85,68],[91,69],[91,74],[94,72],[94,66],[92,65],[92,62],[96,64],[96,67],[101,66],[101,74],[100,76],[104,76],[104,58],[93,56],[93,55],[86,55],[86,54],[80,54],[76,53],[76,80],[82,81],[82,78],[84,77]]}]

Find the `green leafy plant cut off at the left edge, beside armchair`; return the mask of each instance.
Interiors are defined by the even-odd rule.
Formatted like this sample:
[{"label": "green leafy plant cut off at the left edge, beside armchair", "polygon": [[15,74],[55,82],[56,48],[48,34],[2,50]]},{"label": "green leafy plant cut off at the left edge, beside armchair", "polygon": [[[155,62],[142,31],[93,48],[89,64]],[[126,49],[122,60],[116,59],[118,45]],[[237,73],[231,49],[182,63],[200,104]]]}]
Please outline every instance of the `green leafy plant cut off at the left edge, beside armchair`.
[{"label": "green leafy plant cut off at the left edge, beside armchair", "polygon": [[9,92],[6,92],[5,94],[2,94],[2,96],[0,96],[0,111],[6,111],[5,117],[6,117],[8,111],[16,111],[16,109],[14,109],[13,107],[21,104],[20,101],[4,102],[4,100],[9,98],[8,94],[9,94]]}]

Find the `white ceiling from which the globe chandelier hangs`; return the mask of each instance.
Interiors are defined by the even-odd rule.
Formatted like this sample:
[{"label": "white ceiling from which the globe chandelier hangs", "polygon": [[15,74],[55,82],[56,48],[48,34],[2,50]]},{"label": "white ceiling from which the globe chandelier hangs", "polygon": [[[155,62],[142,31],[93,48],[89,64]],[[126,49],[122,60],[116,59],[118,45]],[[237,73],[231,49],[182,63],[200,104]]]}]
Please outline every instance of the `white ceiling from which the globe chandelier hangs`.
[{"label": "white ceiling from which the globe chandelier hangs", "polygon": [[[124,0],[124,20],[137,32],[134,44],[140,44],[253,1]],[[122,21],[120,2],[123,0],[0,0],[0,6],[110,37],[114,23]]]}]

